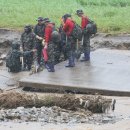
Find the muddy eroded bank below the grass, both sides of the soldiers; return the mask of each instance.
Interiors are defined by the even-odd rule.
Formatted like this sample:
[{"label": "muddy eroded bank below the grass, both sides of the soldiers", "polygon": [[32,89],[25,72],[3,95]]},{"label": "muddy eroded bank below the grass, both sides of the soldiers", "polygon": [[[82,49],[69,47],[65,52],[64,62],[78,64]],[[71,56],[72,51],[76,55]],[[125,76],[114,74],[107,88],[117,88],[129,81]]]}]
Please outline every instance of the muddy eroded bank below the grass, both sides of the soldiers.
[{"label": "muddy eroded bank below the grass, both sides of the soldiers", "polygon": [[[19,41],[21,32],[15,30],[0,29],[0,52],[10,47],[12,41]],[[130,50],[130,34],[111,35],[97,33],[91,38],[92,50],[98,48]],[[3,52],[4,52],[3,51]]]}]

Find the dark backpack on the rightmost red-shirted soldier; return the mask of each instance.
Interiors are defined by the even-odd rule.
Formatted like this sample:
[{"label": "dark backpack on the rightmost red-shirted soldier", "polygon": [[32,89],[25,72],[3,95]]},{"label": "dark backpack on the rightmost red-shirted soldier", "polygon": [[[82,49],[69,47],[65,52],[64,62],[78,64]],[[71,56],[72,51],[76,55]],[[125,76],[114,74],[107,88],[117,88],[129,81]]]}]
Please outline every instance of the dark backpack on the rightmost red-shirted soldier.
[{"label": "dark backpack on the rightmost red-shirted soldier", "polygon": [[90,34],[96,34],[97,33],[97,25],[96,25],[96,23],[89,19],[85,31],[90,33]]}]

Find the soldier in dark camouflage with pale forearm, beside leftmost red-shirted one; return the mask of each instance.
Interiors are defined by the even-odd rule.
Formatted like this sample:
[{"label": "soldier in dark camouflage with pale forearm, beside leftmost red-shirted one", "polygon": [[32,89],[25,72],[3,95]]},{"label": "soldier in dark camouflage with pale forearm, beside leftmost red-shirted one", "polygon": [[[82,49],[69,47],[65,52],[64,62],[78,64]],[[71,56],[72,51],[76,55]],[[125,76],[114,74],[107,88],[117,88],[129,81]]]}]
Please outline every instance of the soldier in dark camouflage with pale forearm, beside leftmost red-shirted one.
[{"label": "soldier in dark camouflage with pale forearm, beside leftmost red-shirted one", "polygon": [[40,64],[41,64],[41,54],[42,54],[42,40],[43,40],[43,37],[44,37],[45,26],[42,23],[43,22],[42,17],[38,17],[37,21],[38,21],[38,23],[34,27],[34,33],[36,35],[35,49],[37,49],[37,62],[40,66]]}]

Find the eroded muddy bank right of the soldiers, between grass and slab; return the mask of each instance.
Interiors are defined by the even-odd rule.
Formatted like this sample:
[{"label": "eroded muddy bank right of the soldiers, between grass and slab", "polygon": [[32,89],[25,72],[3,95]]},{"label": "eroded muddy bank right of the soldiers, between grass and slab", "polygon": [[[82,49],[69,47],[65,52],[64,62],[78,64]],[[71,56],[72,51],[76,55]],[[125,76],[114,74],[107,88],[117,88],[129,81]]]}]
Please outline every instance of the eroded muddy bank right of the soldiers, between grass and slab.
[{"label": "eroded muddy bank right of the soldiers, between grass and slab", "polygon": [[98,48],[130,50],[130,34],[97,34],[91,38],[91,48],[92,50]]}]

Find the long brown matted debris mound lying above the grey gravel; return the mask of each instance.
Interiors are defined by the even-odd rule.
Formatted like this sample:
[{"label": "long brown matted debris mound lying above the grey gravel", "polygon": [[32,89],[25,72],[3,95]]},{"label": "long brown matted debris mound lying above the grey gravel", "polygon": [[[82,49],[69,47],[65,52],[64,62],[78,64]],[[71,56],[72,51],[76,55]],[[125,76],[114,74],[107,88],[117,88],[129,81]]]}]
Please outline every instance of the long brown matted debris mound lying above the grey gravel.
[{"label": "long brown matted debris mound lying above the grey gravel", "polygon": [[38,97],[36,94],[25,94],[19,92],[0,93],[0,108],[13,109],[17,107],[52,107],[57,106],[71,111],[90,111],[92,113],[104,113],[109,111],[112,104],[111,99],[99,95],[76,97],[73,94],[63,96]]}]

